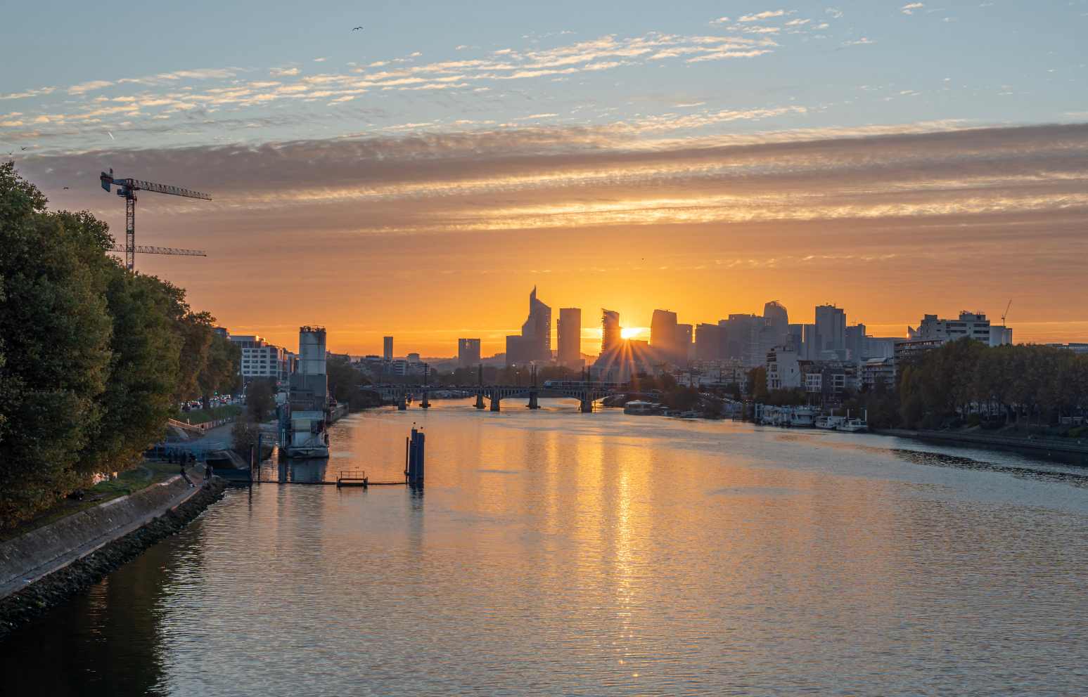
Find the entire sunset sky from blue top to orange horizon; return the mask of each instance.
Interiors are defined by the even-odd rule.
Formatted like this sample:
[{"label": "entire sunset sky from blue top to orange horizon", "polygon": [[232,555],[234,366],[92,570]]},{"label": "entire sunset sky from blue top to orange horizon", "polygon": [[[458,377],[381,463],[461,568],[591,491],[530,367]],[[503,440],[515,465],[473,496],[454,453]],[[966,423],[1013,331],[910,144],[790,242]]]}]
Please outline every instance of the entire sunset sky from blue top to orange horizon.
[{"label": "entire sunset sky from blue top to orange horizon", "polygon": [[210,194],[140,195],[208,257],[136,267],[233,333],[490,354],[535,285],[586,352],[768,300],[1088,340],[1088,0],[160,4],[7,8],[0,157],[122,236],[102,170]]}]

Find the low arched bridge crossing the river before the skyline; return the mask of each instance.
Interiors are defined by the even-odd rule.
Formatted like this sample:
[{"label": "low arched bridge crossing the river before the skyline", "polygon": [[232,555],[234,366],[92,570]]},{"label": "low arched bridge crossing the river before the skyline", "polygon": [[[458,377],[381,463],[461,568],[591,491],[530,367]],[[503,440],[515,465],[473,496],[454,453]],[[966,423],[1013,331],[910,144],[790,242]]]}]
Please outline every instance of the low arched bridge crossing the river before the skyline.
[{"label": "low arched bridge crossing the river before the skyline", "polygon": [[[382,401],[395,402],[397,409],[408,408],[409,398],[419,399],[421,409],[431,407],[431,393],[450,391],[460,393],[466,397],[475,397],[477,409],[490,409],[500,411],[504,399],[517,399],[524,397],[529,400],[527,404],[530,409],[540,409],[541,397],[552,397],[559,399],[577,399],[579,411],[582,413],[593,412],[593,402],[613,395],[626,394],[629,390],[605,387],[588,383],[584,385],[571,385],[569,387],[540,387],[536,385],[474,385],[474,386],[449,386],[438,387],[432,385],[392,385],[384,387],[364,387],[367,391],[376,393],[382,397]],[[484,403],[484,400],[487,403]]]}]

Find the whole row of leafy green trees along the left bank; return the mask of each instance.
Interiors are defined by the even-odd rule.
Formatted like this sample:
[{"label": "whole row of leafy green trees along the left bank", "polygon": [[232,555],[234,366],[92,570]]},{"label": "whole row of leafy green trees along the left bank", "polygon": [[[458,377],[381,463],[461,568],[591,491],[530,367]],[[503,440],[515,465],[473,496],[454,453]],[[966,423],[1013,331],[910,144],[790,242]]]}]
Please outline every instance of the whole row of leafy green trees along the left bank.
[{"label": "whole row of leafy green trees along the left bank", "polygon": [[239,350],[185,291],[106,252],[109,227],[0,165],[0,527],[124,470],[183,400],[236,388]]}]

